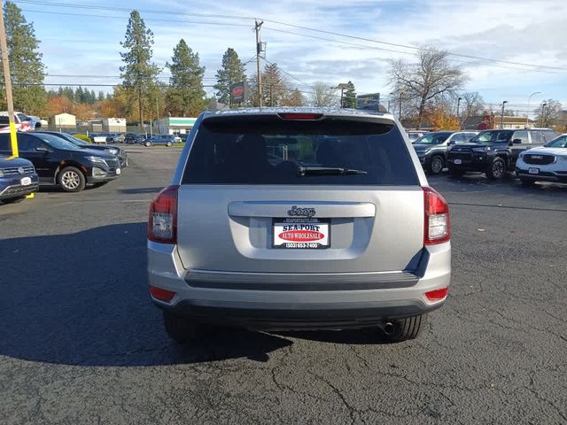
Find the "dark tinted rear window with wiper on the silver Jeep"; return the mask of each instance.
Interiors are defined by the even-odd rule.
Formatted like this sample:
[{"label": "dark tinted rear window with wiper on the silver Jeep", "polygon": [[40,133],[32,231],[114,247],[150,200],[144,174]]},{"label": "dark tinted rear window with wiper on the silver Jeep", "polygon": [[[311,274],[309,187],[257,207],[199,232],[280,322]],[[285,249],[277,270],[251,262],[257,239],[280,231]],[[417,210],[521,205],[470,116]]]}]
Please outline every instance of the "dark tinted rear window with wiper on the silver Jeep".
[{"label": "dark tinted rear window with wiper on the silver Jeep", "polygon": [[184,184],[416,185],[400,132],[364,117],[203,120]]}]

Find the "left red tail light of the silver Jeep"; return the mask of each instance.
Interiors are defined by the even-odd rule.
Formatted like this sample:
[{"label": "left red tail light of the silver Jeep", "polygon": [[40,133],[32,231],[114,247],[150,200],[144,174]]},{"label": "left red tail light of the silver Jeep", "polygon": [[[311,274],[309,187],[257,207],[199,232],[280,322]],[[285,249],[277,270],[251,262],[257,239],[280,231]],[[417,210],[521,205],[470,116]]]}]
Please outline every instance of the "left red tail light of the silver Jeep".
[{"label": "left red tail light of the silver Jeep", "polygon": [[177,243],[177,190],[167,186],[150,205],[148,239],[159,243]]}]

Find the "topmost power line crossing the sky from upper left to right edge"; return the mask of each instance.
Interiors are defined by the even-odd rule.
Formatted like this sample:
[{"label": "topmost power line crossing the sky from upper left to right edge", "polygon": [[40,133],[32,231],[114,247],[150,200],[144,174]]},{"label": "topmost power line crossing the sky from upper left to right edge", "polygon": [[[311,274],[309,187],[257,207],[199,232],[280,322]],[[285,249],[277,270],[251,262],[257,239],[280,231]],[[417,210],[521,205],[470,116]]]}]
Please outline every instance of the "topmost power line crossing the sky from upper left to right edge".
[{"label": "topmost power line crossing the sky from upper left to right edge", "polygon": [[[73,7],[73,8],[78,8],[78,9],[106,10],[106,11],[113,11],[113,12],[131,12],[131,10],[128,9],[128,8],[97,6],[97,5],[91,5],[91,4],[63,4],[63,3],[42,2],[42,1],[36,1],[36,0],[17,0],[17,3],[38,4],[38,5],[42,5],[42,6],[47,5],[47,6],[55,6],[55,7]],[[197,12],[169,12],[169,11],[155,11],[155,10],[139,10],[138,12],[167,14],[167,15],[173,14],[173,15],[185,15],[185,16],[198,16],[198,17],[221,18],[221,19],[245,19],[245,20],[260,19],[260,18],[251,17],[251,16],[223,15],[223,14],[197,13]],[[334,31],[328,31],[328,30],[323,30],[323,29],[318,29],[318,28],[303,27],[303,26],[290,24],[290,23],[287,23],[287,22],[282,22],[282,21],[278,21],[278,20],[274,20],[274,19],[262,19],[262,20],[264,20],[266,22],[271,22],[273,24],[282,25],[282,26],[285,26],[285,27],[294,27],[294,28],[303,29],[303,30],[306,30],[306,31],[317,32],[317,33],[322,33],[322,34],[326,34],[326,35],[335,35],[335,36],[339,36],[339,37],[351,38],[351,39],[354,39],[354,40],[361,40],[361,41],[365,41],[365,42],[374,42],[374,43],[384,44],[384,45],[388,45],[388,46],[392,46],[392,47],[400,47],[400,48],[403,48],[403,49],[421,50],[420,47],[412,46],[412,45],[408,45],[408,44],[400,44],[400,43],[395,43],[395,42],[385,42],[383,40],[376,40],[376,39],[371,39],[371,38],[361,37],[361,36],[356,36],[356,35],[347,35],[347,34],[337,33],[337,32],[334,32]],[[532,64],[522,63],[522,62],[514,62],[514,61],[494,59],[494,58],[483,58],[483,57],[474,56],[474,55],[454,53],[454,52],[451,52],[451,51],[448,51],[447,53],[450,56],[459,57],[459,58],[470,58],[470,59],[477,59],[477,60],[483,60],[483,61],[489,61],[489,62],[498,62],[498,63],[501,63],[501,64],[508,64],[508,65],[515,65],[515,66],[528,66],[528,67],[536,68],[536,69],[545,68],[545,69],[552,69],[552,70],[555,70],[555,71],[563,71],[564,72],[564,68],[559,67],[559,66],[532,65]]]}]

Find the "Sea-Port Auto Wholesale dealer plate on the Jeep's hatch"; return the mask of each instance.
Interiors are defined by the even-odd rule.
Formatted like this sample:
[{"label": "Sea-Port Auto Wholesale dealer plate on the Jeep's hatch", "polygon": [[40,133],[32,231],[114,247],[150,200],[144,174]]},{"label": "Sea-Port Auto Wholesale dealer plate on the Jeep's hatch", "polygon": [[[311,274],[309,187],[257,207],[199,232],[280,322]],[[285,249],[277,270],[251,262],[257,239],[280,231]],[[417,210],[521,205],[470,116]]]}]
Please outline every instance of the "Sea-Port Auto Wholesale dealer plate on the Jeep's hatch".
[{"label": "Sea-Port Auto Wholesale dealer plate on the Jeep's hatch", "polygon": [[320,250],[330,246],[330,221],[321,219],[275,219],[274,248]]}]

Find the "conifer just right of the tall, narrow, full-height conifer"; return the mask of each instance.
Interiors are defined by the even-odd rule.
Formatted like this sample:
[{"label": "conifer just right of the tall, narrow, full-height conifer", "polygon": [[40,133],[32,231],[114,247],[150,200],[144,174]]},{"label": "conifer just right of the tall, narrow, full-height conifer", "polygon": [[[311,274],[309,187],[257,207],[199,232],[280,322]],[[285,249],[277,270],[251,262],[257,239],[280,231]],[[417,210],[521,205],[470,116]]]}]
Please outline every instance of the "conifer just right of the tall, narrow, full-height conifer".
[{"label": "conifer just right of the tall, narrow, full-height conifer", "polygon": [[174,49],[171,63],[166,65],[171,72],[167,91],[166,109],[172,115],[197,116],[205,104],[203,75],[205,66],[199,66],[198,53],[193,52],[183,38]]}]

